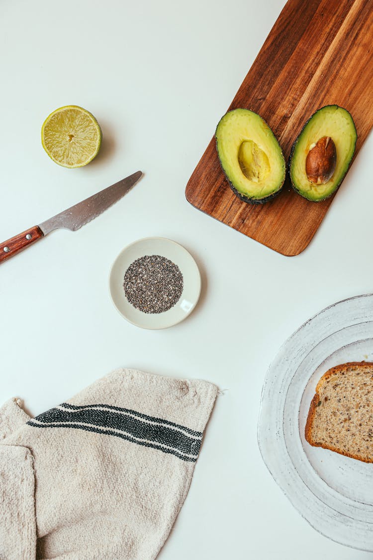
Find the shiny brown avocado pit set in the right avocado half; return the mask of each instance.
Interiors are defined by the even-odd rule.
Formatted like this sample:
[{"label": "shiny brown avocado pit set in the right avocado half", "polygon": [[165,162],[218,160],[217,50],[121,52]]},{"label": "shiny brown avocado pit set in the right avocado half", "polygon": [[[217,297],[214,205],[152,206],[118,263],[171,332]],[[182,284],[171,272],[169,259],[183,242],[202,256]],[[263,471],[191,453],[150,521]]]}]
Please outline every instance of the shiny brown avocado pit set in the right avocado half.
[{"label": "shiny brown avocado pit set in the right avocado half", "polygon": [[323,185],[332,178],[337,164],[336,144],[330,136],[319,138],[310,145],[306,157],[306,175],[311,183]]}]

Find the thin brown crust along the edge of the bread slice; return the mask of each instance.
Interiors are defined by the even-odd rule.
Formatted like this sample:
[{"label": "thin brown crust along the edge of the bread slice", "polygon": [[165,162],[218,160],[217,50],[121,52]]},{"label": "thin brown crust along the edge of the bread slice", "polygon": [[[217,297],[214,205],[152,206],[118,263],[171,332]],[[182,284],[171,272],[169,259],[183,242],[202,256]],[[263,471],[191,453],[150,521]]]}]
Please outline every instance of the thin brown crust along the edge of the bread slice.
[{"label": "thin brown crust along the edge of the bread slice", "polygon": [[331,367],[322,377],[320,377],[318,384],[316,385],[316,389],[315,389],[315,395],[313,397],[313,399],[311,400],[311,404],[310,404],[310,408],[308,411],[308,416],[307,416],[307,421],[306,421],[306,425],[304,428],[304,436],[306,438],[306,441],[308,441],[308,443],[310,445],[312,445],[313,447],[323,447],[323,449],[329,449],[330,451],[335,451],[336,453],[339,453],[340,455],[344,455],[346,457],[351,457],[351,459],[357,459],[358,461],[363,461],[363,463],[373,463],[373,458],[372,459],[366,459],[363,458],[362,456],[359,455],[353,455],[348,453],[347,451],[343,451],[342,449],[339,449],[338,447],[332,447],[332,446],[328,446],[325,444],[319,444],[317,441],[314,441],[312,436],[311,436],[311,431],[312,431],[312,427],[313,427],[313,421],[317,412],[317,407],[318,407],[318,403],[320,401],[320,388],[322,388],[323,384],[325,383],[325,381],[327,381],[327,379],[329,379],[329,377],[331,377],[332,375],[339,373],[340,371],[346,370],[347,367],[351,367],[351,366],[358,366],[361,367],[362,369],[365,369],[365,366],[367,366],[367,369],[371,369],[373,368],[373,362],[346,362],[346,363],[341,363],[339,366],[334,366]]}]

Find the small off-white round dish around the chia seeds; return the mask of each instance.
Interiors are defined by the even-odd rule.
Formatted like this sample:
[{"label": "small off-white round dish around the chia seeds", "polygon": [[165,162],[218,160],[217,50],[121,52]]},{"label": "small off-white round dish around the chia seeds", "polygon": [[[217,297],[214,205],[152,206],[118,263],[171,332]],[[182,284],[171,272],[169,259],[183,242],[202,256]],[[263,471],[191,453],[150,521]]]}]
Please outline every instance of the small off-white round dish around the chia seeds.
[{"label": "small off-white round dish around the chia seeds", "polygon": [[[145,255],[160,255],[176,264],[183,275],[183,291],[176,305],[163,313],[144,313],[129,303],[124,293],[124,275],[134,260]],[[109,291],[116,309],[143,329],[166,329],[191,314],[201,293],[201,275],[192,255],[175,241],[164,237],[145,237],[125,247],[117,256],[109,275]]]}]

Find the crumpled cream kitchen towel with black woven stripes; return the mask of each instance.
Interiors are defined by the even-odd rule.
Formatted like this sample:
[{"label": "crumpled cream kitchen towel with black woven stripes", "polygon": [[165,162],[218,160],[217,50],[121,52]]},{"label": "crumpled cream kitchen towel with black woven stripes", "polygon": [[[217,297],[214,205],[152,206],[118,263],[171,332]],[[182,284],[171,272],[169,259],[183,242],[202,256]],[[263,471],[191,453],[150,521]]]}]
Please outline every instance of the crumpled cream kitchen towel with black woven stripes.
[{"label": "crumpled cream kitchen towel with black woven stripes", "polygon": [[217,388],[116,370],[30,418],[0,409],[0,558],[148,560],[190,486]]}]

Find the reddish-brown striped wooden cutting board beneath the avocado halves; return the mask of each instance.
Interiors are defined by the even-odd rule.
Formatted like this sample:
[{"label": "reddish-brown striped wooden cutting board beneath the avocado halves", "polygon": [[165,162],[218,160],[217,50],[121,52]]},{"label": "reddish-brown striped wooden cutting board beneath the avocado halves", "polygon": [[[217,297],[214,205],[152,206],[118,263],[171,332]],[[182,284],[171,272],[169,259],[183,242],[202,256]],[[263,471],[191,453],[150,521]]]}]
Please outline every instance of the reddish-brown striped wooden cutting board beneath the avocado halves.
[{"label": "reddish-brown striped wooden cutting board beneath the avocado halves", "polygon": [[[229,109],[259,113],[287,160],[309,116],[323,105],[340,105],[355,120],[356,155],[373,126],[372,45],[372,0],[289,0]],[[306,248],[333,199],[309,202],[287,178],[273,201],[240,202],[221,170],[214,138],[188,181],[186,197],[202,212],[287,256]]]}]

